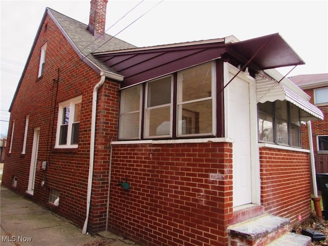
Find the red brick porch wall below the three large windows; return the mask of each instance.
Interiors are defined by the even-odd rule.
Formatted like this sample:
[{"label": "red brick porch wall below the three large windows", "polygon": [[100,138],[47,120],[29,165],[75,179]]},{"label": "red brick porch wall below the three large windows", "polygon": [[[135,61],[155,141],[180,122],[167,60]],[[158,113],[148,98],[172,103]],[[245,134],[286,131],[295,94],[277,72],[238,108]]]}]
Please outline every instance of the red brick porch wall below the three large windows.
[{"label": "red brick porch wall below the three large windows", "polygon": [[114,145],[109,211],[109,230],[145,245],[226,245],[232,144]]}]

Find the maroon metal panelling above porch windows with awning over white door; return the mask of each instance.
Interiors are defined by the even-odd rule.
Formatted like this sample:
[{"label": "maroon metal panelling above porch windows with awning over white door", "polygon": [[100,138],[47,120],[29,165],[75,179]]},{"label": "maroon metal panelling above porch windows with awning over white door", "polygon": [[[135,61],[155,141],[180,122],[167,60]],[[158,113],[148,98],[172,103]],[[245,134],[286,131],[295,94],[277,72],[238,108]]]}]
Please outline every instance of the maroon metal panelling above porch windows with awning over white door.
[{"label": "maroon metal panelling above porch windows with awning over white door", "polygon": [[121,88],[126,88],[220,58],[224,53],[255,70],[305,64],[279,33],[232,44],[220,38],[93,55],[123,75]]}]

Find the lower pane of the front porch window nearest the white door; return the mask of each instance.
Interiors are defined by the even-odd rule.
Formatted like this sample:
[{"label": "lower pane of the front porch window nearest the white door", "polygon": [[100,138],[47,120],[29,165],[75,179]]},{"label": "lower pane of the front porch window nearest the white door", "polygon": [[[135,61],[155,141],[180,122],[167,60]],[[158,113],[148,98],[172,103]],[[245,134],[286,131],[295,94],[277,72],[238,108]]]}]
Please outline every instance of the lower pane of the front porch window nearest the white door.
[{"label": "lower pane of the front porch window nearest the white door", "polygon": [[177,135],[212,133],[212,100],[178,106]]}]

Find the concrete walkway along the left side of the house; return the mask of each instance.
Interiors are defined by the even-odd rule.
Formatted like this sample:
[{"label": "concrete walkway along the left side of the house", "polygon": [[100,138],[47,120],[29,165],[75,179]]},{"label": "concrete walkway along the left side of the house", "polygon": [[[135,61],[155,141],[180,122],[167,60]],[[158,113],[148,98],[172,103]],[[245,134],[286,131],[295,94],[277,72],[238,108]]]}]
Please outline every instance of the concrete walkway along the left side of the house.
[{"label": "concrete walkway along the left side of the house", "polygon": [[51,213],[5,187],[1,187],[0,195],[2,246],[82,246],[87,243],[101,245],[96,242],[104,239],[108,241],[106,245],[134,244],[109,232],[102,233],[102,236],[81,234],[81,229],[69,220]]}]

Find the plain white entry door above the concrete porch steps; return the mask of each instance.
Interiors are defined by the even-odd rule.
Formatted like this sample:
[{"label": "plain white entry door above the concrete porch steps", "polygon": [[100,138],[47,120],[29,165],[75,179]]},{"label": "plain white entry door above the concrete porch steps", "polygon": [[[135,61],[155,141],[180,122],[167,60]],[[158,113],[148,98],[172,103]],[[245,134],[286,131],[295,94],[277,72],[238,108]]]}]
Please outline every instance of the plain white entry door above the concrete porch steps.
[{"label": "plain white entry door above the concrete porch steps", "polygon": [[[229,77],[233,77],[229,73]],[[252,203],[250,89],[240,77],[228,86],[228,137],[233,142],[233,207]]]}]

